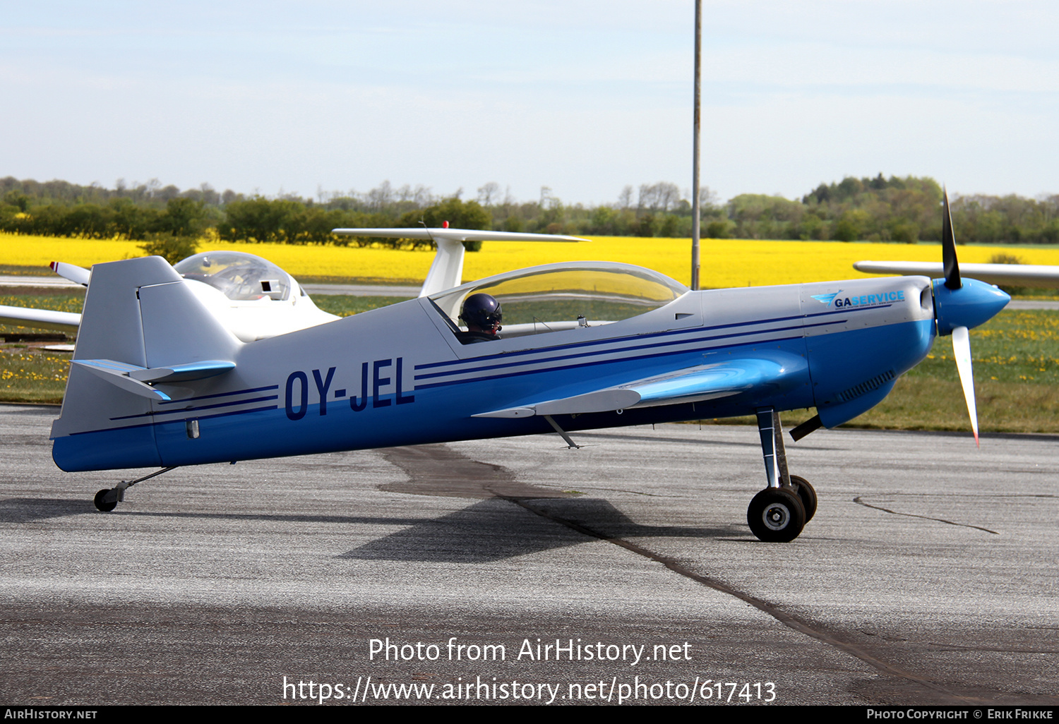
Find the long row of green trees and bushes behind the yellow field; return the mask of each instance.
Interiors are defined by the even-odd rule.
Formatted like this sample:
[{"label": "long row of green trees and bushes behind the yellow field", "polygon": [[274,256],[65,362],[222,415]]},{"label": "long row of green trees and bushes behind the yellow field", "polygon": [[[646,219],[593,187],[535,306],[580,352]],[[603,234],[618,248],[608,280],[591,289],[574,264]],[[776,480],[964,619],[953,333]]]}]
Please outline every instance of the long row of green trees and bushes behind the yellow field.
[{"label": "long row of green trees and bushes behind the yellow field", "polygon": [[[0,179],[0,230],[47,236],[127,238],[159,242],[189,239],[215,230],[227,241],[285,243],[381,243],[414,248],[423,241],[338,237],[341,227],[441,225],[582,236],[672,236],[692,234],[686,189],[659,182],[625,186],[617,200],[598,205],[566,204],[550,188],[519,201],[490,182],[477,197],[462,191],[435,196],[425,186],[369,192],[322,192],[245,196],[218,193],[209,184],[181,191],[157,180],[114,188]],[[802,199],[741,194],[720,203],[700,196],[702,235],[707,238],[869,240],[915,243],[941,236],[941,188],[931,178],[846,177]],[[952,199],[959,242],[1059,242],[1059,196],[963,196]]]}]

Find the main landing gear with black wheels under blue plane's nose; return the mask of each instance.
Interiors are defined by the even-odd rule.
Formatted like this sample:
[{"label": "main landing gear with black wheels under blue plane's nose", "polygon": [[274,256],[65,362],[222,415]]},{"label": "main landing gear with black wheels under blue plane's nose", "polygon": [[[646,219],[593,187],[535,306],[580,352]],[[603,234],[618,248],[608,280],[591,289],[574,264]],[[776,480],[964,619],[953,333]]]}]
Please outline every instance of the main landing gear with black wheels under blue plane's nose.
[{"label": "main landing gear with black wheels under blue plane's nose", "polygon": [[779,413],[772,408],[757,411],[765,477],[768,487],[754,495],[747,509],[747,523],[759,540],[793,541],[816,512],[816,492],[804,477],[787,470],[787,452]]}]

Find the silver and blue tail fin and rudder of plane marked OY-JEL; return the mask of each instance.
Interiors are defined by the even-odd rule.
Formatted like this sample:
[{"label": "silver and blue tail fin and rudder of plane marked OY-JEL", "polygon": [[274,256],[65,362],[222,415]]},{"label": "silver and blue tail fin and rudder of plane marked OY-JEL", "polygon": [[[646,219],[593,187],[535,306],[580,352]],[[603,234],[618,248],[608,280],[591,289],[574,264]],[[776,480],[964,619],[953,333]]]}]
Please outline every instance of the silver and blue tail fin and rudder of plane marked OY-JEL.
[{"label": "silver and blue tail fin and rudder of plane marked OY-JEL", "polygon": [[56,465],[160,466],[157,400],[179,393],[164,380],[222,374],[235,366],[240,346],[160,256],[95,265],[62,411],[52,424]]}]

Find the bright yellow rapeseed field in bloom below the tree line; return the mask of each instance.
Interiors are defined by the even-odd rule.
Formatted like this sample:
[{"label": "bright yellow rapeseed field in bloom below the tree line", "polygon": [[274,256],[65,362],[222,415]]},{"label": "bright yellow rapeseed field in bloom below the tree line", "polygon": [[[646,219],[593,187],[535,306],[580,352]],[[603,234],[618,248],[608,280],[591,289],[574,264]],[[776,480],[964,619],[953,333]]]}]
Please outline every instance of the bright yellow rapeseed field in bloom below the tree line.
[{"label": "bright yellow rapeseed field in bloom below the tree line", "polygon": [[[338,276],[417,280],[427,275],[432,251],[356,249],[279,243],[221,243],[203,239],[200,251],[246,251],[277,264],[295,277]],[[961,247],[959,260],[985,263],[993,254],[1015,254],[1026,264],[1059,265],[1055,247]],[[861,259],[939,261],[935,243],[842,243],[838,241],[702,240],[701,284],[705,288],[797,284],[870,276],[855,271]],[[70,239],[0,234],[0,265],[40,267],[52,260],[90,267],[98,261],[142,256],[136,241]],[[624,261],[650,267],[688,284],[690,239],[593,237],[590,243],[486,242],[467,254],[464,279],[510,269],[581,259]]]}]

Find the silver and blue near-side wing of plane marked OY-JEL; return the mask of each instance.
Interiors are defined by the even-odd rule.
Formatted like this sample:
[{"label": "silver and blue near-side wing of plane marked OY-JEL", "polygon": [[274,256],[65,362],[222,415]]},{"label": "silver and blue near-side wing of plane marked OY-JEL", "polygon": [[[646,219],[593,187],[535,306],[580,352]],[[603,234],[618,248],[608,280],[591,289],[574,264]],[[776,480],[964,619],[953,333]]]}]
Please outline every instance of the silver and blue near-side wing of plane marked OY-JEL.
[{"label": "silver and blue near-side wing of plane marked OY-JEL", "polygon": [[[805,364],[805,360],[795,364]],[[667,375],[596,390],[558,399],[530,402],[514,408],[479,413],[472,417],[532,417],[534,415],[584,415],[632,408],[653,408],[682,402],[701,402],[772,387],[778,392],[785,378],[793,378],[787,361],[741,359],[687,367]]]}]

